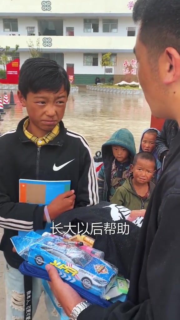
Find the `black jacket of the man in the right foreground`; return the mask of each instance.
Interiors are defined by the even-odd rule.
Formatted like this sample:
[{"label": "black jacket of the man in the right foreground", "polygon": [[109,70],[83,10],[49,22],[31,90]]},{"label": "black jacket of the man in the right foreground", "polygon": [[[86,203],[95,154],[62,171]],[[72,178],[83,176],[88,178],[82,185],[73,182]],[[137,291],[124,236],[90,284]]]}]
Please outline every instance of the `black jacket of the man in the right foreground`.
[{"label": "black jacket of the man in the right foreground", "polygon": [[[127,301],[113,303],[109,308],[92,304],[77,320],[179,320],[179,141],[180,132],[169,150],[146,209],[132,263]],[[128,245],[125,246],[128,251]]]}]

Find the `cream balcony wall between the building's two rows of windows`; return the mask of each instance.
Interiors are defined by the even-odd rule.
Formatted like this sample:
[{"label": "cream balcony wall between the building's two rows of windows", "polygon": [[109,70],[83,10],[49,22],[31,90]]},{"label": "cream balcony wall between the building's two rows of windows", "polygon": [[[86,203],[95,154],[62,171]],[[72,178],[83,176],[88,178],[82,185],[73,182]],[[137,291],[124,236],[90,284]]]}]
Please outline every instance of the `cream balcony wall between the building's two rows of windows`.
[{"label": "cream balcony wall between the building's two rows of windows", "polygon": [[136,37],[113,36],[0,36],[0,47],[28,51],[29,45],[42,52],[132,52]]}]

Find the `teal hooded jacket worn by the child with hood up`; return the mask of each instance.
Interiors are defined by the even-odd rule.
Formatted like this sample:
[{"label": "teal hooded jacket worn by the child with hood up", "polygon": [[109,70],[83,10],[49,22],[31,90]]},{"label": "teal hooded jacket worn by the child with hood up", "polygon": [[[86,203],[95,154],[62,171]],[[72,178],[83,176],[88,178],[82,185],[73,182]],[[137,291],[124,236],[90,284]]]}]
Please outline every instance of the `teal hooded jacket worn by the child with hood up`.
[{"label": "teal hooded jacket worn by the child with hood up", "polygon": [[[99,201],[110,201],[110,196],[113,196],[115,191],[110,189],[111,186],[111,170],[114,156],[112,153],[112,146],[117,145],[126,148],[129,151],[130,157],[126,164],[121,164],[118,168],[119,173],[127,171],[126,177],[121,180],[126,180],[130,172],[129,166],[132,163],[136,154],[135,140],[133,134],[127,129],[120,129],[112,134],[109,140],[102,145],[102,161],[103,165],[98,174],[98,187],[99,187]],[[121,181],[122,184],[123,181]]]}]

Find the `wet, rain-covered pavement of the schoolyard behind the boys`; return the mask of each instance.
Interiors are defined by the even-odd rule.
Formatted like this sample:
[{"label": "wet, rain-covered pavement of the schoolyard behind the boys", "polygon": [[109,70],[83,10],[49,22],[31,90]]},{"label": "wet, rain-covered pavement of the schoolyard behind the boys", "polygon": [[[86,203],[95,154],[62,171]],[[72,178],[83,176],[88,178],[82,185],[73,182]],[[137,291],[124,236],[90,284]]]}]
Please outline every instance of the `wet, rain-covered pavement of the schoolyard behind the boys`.
[{"label": "wet, rain-covered pavement of the schoolyard behind the boys", "polygon": [[[4,110],[6,114],[1,116],[4,121],[0,121],[1,134],[15,129],[18,122],[27,115],[26,109],[17,100],[16,91],[13,92],[16,106]],[[0,91],[1,97],[2,93]],[[10,92],[7,94],[9,97]],[[133,133],[138,151],[141,133],[150,126],[150,119],[150,108],[143,95],[116,95],[84,89],[70,94],[63,121],[68,129],[86,138],[94,155],[110,135],[120,128],[127,128]],[[0,237],[2,234],[3,230],[0,229]],[[0,320],[5,319],[3,272],[4,259],[0,252]],[[43,297],[34,320],[47,320]]]}]

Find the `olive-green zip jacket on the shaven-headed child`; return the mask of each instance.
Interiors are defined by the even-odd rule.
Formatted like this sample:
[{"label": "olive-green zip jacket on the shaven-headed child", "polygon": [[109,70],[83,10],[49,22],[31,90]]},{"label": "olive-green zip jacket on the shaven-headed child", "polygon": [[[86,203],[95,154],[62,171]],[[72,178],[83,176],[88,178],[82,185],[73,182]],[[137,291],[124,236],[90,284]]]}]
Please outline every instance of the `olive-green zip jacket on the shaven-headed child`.
[{"label": "olive-green zip jacket on the shaven-headed child", "polygon": [[119,187],[114,196],[111,199],[112,204],[122,205],[129,210],[141,210],[147,209],[152,191],[155,188],[155,183],[150,181],[149,183],[150,192],[148,197],[143,201],[143,198],[138,196],[132,185],[132,176],[130,176],[124,183],[123,186]]}]

